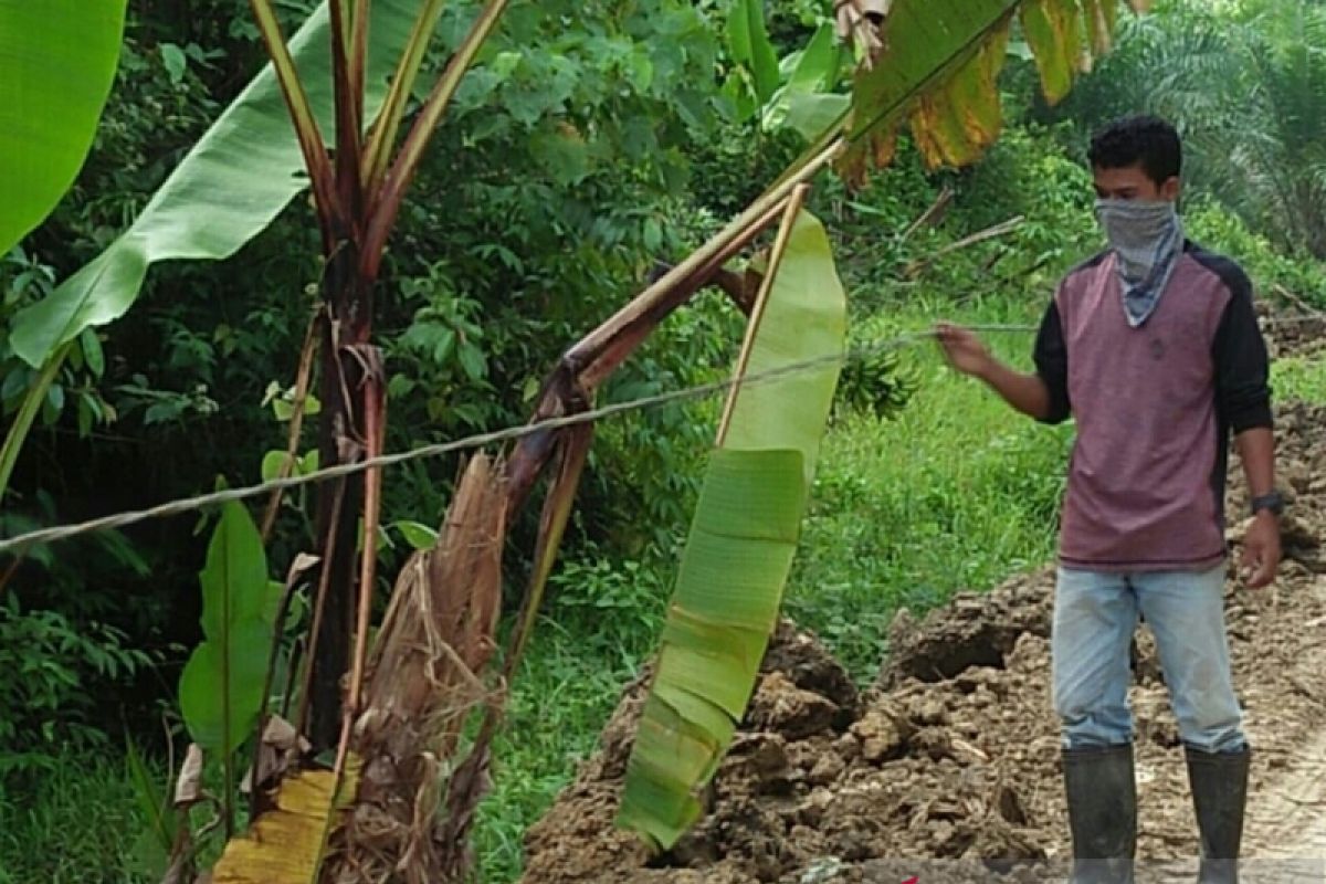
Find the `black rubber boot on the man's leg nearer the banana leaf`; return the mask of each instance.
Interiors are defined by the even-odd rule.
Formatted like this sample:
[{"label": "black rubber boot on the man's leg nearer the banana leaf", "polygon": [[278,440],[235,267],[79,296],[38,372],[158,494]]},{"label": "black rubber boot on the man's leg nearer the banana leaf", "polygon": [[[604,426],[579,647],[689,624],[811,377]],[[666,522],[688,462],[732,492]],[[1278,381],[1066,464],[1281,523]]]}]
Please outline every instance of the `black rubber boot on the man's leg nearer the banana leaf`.
[{"label": "black rubber boot on the man's leg nearer the banana leaf", "polygon": [[1073,884],[1132,884],[1138,787],[1132,745],[1065,749]]}]

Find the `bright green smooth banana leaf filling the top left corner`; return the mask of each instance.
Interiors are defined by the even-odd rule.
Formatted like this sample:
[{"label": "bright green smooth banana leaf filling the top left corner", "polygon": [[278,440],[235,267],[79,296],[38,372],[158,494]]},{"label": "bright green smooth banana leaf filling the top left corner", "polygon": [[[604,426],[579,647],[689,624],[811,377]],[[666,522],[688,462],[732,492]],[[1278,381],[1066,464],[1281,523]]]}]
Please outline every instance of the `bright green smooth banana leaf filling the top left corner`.
[{"label": "bright green smooth banana leaf filling the top left corner", "polygon": [[73,186],[123,33],[125,0],[0,0],[0,254]]}]

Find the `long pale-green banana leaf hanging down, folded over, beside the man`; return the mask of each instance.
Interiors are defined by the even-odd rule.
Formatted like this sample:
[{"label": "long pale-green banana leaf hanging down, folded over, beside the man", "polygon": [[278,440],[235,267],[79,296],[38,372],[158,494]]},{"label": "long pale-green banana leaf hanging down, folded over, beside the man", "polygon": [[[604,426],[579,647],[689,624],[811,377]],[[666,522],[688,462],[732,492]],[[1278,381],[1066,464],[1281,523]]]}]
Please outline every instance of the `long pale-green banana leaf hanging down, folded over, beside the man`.
[{"label": "long pale-green banana leaf hanging down, folded over, beside the man", "polygon": [[[780,243],[781,245],[781,243]],[[751,321],[739,376],[839,355],[846,298],[823,227],[801,212]],[[671,847],[732,742],[777,622],[838,363],[739,387],[700,492],[618,824]]]}]

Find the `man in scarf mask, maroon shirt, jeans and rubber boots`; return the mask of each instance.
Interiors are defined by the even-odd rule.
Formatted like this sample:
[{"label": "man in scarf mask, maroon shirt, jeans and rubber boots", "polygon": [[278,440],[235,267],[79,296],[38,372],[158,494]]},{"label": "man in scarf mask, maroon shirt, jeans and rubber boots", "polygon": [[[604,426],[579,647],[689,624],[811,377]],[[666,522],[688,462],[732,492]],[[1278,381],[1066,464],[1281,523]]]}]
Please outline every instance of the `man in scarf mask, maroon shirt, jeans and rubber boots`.
[{"label": "man in scarf mask, maroon shirt, jeans and rubber boots", "polygon": [[1249,745],[1225,636],[1224,480],[1233,432],[1252,492],[1244,579],[1280,563],[1265,342],[1252,286],[1183,235],[1181,146],[1154,117],[1091,142],[1109,249],[1071,270],[1041,322],[1036,371],[971,331],[936,329],[951,364],[1040,421],[1077,421],[1059,535],[1052,669],[1077,883],[1131,881],[1136,843],[1128,651],[1151,626],[1184,741],[1199,881],[1237,881]]}]

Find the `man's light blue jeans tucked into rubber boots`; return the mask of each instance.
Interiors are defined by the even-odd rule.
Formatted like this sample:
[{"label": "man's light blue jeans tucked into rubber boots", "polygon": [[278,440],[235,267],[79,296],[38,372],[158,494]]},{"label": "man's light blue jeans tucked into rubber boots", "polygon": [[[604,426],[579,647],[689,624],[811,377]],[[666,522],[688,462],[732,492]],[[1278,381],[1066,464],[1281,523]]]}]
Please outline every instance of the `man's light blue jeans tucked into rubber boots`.
[{"label": "man's light blue jeans tucked into rubber boots", "polygon": [[1128,649],[1139,614],[1156,639],[1180,738],[1204,751],[1244,747],[1225,636],[1224,577],[1224,565],[1204,573],[1059,569],[1050,655],[1065,747],[1132,741]]}]

